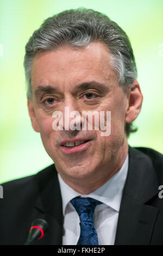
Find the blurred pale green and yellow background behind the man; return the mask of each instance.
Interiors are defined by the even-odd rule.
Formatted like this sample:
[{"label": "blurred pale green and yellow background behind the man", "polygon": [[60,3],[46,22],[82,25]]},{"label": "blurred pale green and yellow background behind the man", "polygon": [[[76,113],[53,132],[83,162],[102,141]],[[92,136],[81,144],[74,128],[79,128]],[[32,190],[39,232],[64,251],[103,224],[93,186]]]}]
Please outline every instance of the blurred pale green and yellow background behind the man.
[{"label": "blurred pale green and yellow background behind the man", "polygon": [[48,16],[79,7],[105,13],[128,34],[144,96],[129,144],[163,153],[163,0],[0,0],[0,183],[52,163],[28,117],[24,46]]}]

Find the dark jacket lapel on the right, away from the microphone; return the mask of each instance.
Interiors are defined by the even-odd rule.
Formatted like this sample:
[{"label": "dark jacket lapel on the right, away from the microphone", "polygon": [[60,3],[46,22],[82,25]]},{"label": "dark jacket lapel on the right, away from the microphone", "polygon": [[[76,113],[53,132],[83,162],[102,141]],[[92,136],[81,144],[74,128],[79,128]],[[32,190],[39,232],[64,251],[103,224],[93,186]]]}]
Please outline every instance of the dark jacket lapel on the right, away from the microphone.
[{"label": "dark jacket lapel on the right, away from the microphone", "polygon": [[129,147],[129,169],[118,217],[115,245],[149,245],[159,210],[150,200],[158,194],[151,159]]}]

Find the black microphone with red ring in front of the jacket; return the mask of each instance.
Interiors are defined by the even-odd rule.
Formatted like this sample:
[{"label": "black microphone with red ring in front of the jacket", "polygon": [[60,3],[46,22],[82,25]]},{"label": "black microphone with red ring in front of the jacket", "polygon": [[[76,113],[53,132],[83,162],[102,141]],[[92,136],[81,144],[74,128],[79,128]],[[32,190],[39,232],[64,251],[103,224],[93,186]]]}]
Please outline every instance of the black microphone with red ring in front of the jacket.
[{"label": "black microphone with red ring in front of the jacket", "polygon": [[46,234],[47,228],[47,221],[41,218],[34,220],[29,229],[28,239],[24,245],[31,245],[36,239],[41,239]]}]

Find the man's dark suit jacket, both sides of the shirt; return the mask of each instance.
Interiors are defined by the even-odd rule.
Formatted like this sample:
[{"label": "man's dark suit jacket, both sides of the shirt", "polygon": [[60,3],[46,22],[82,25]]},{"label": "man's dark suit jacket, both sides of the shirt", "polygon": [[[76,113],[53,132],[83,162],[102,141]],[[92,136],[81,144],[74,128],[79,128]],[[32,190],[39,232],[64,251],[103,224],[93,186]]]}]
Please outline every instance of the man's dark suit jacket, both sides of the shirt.
[{"label": "man's dark suit jacket, both sides of the shirt", "polygon": [[[24,245],[32,221],[47,220],[47,234],[35,245],[62,244],[62,202],[54,164],[36,175],[7,182],[0,199],[0,244]],[[129,170],[115,245],[163,245],[163,156],[129,147]]]}]

